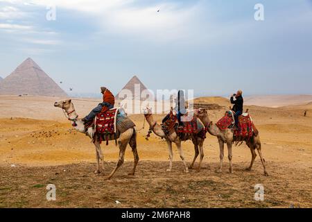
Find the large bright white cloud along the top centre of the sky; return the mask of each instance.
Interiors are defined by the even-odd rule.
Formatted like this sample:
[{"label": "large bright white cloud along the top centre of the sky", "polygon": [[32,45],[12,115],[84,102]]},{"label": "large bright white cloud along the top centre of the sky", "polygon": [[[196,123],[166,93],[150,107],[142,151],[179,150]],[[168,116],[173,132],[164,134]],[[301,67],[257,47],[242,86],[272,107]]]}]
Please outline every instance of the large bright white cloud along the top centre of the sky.
[{"label": "large bright white cloud along the top centre of the sky", "polygon": [[[21,0],[0,1],[25,4]],[[26,5],[42,6],[43,10],[46,6],[55,6],[56,19],[58,8],[76,10],[94,17],[99,33],[103,31],[156,41],[188,38],[190,33],[197,35],[193,24],[198,22],[200,12],[200,3],[183,6],[183,3],[173,1],[142,6],[135,0],[29,0]]]}]

